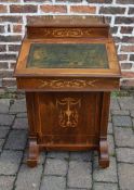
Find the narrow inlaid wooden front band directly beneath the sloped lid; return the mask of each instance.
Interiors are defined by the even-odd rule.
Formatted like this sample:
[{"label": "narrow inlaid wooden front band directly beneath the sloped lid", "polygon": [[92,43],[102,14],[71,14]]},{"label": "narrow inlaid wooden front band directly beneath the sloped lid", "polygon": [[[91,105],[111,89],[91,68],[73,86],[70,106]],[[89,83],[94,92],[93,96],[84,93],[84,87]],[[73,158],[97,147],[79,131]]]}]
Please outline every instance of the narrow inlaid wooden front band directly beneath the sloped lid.
[{"label": "narrow inlaid wooden front band directly beneath the sloped lid", "polygon": [[26,91],[111,91],[119,89],[119,79],[17,77],[17,87]]}]

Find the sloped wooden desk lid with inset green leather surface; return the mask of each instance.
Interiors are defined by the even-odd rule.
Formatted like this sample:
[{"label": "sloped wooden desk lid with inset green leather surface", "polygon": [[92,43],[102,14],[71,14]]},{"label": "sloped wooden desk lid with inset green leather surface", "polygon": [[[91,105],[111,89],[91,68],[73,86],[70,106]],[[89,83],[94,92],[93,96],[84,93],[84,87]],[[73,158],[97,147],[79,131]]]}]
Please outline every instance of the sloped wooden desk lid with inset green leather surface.
[{"label": "sloped wooden desk lid with inset green leather surface", "polygon": [[25,39],[15,76],[120,77],[112,40]]}]

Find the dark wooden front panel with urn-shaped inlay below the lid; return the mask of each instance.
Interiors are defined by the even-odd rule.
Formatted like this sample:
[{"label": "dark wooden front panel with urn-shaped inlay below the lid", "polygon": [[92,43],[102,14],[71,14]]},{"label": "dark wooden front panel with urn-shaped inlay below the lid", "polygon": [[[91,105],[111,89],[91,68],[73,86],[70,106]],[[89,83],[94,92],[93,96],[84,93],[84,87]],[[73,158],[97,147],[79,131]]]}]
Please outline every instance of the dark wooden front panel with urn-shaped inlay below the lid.
[{"label": "dark wooden front panel with urn-shaped inlay below the lid", "polygon": [[98,144],[100,93],[48,92],[38,96],[40,143]]}]

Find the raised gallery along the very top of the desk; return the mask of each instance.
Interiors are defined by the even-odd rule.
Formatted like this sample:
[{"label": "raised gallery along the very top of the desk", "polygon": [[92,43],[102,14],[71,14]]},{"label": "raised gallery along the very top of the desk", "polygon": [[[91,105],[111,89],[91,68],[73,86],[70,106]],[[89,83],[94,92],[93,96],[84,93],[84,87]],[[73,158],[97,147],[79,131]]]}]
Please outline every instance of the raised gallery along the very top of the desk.
[{"label": "raised gallery along the very top of the desk", "polygon": [[[28,16],[27,26],[31,27],[89,27],[89,26],[106,26],[103,16],[91,15],[45,15],[45,16]],[[107,25],[108,26],[108,25]]]}]

